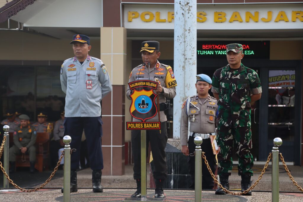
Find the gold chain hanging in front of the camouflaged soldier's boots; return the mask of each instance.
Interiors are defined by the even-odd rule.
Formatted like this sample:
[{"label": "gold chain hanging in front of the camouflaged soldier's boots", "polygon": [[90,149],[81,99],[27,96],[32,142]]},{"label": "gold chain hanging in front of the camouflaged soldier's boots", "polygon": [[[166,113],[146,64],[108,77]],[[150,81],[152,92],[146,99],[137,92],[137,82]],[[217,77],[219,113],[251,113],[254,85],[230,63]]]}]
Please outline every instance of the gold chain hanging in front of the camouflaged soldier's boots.
[{"label": "gold chain hanging in front of the camouflaged soldier's boots", "polygon": [[231,194],[231,195],[234,195],[234,196],[235,196],[235,195],[239,196],[239,195],[242,195],[242,194],[247,194],[250,190],[252,190],[252,189],[259,183],[259,181],[262,179],[263,174],[265,173],[265,171],[266,171],[266,169],[267,169],[267,167],[268,167],[268,163],[269,163],[269,161],[271,160],[271,153],[269,153],[269,155],[268,155],[268,157],[267,157],[267,161],[266,161],[266,163],[265,163],[265,166],[264,166],[264,168],[263,168],[263,170],[262,170],[260,176],[258,177],[258,180],[255,181],[255,184],[253,184],[248,190],[245,190],[245,191],[240,192],[240,193],[235,193],[235,192],[231,192],[231,191],[225,189],[225,188],[219,183],[219,181],[217,180],[217,178],[215,177],[215,175],[212,173],[211,168],[209,167],[208,161],[206,160],[206,157],[205,157],[204,154],[205,154],[205,152],[202,152],[202,158],[203,158],[204,161],[205,161],[205,164],[206,164],[206,166],[207,166],[207,169],[208,169],[209,173],[211,174],[211,177],[215,180],[215,183],[217,183],[218,186],[219,186],[221,189],[223,189],[226,193]]}]

